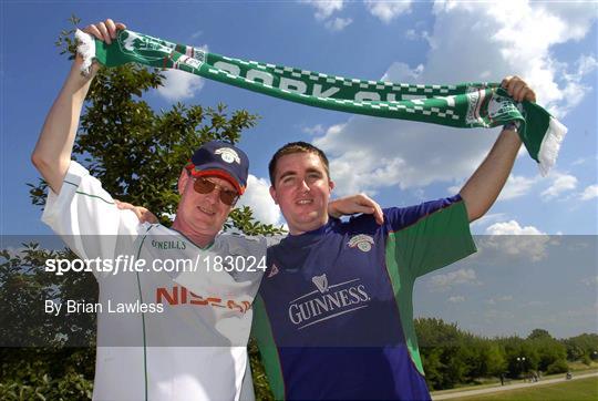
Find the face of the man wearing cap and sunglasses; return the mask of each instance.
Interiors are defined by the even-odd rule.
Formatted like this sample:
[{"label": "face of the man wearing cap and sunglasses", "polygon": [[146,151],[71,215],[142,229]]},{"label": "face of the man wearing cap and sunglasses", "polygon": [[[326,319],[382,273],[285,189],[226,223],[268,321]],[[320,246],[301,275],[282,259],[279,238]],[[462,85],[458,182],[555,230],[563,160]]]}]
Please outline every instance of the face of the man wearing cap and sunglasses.
[{"label": "face of the man wearing cap and sunglasses", "polygon": [[[200,194],[194,188],[194,179],[208,179],[216,184],[216,187],[207,193]],[[233,210],[234,205],[226,205],[220,199],[220,191],[233,191],[235,187],[228,181],[216,176],[203,176],[194,178],[187,175],[187,178],[182,183],[182,198],[178,204],[177,219],[182,219],[187,229],[193,234],[202,234],[206,236],[216,236],[226,222],[228,214]]]}]

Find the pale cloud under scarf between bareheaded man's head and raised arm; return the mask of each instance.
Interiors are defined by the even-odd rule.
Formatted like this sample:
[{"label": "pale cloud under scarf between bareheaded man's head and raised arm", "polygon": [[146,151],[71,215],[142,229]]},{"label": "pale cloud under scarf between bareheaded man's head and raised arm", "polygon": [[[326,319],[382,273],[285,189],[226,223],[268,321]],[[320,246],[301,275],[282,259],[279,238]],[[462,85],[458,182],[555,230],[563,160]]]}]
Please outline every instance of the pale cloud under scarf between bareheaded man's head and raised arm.
[{"label": "pale cloud under scarf between bareheaded man's head and raised arm", "polygon": [[[439,133],[429,135],[426,125],[355,116],[347,124],[331,126],[313,143],[329,155],[331,176],[340,194],[461,181],[484,157],[480,143],[486,148],[492,143],[488,135],[463,131],[451,132],[451,141],[446,141]],[[451,168],[446,168],[447,163]]]}]

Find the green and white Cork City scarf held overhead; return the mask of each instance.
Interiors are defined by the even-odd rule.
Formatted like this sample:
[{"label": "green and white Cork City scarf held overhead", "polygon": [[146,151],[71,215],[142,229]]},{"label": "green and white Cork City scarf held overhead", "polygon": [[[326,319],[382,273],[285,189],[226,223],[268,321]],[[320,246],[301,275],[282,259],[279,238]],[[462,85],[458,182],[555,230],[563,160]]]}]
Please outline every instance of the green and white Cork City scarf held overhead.
[{"label": "green and white Cork City scarf held overhead", "polygon": [[310,106],[454,127],[494,127],[508,122],[546,175],[567,128],[535,103],[515,102],[498,83],[414,85],[364,81],[290,66],[233,59],[128,30],[107,45],[76,31],[82,71],[93,59],[106,66],[137,62],[186,71],[210,80]]}]

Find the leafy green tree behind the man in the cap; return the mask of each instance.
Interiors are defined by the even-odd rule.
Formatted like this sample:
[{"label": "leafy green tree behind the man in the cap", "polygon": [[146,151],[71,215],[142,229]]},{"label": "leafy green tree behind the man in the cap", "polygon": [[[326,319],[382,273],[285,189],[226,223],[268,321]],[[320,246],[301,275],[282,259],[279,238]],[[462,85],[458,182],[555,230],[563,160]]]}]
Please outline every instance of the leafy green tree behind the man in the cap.
[{"label": "leafy green tree behind the man in the cap", "polygon": [[[71,22],[76,25],[79,19],[73,16]],[[74,58],[75,50],[71,38],[74,29],[62,31],[56,41],[61,54],[70,59]],[[73,158],[100,178],[115,198],[163,212],[158,216],[161,223],[169,225],[179,200],[177,178],[190,153],[212,140],[236,143],[244,130],[256,125],[258,117],[245,110],[229,113],[224,104],[204,107],[177,103],[168,111],[156,113],[143,97],[163,82],[164,75],[159,70],[136,64],[101,69],[86,97]],[[40,179],[28,185],[32,203],[43,206],[47,184]],[[231,227],[249,235],[283,232],[281,227],[255,220],[248,207],[230,214],[225,228]],[[68,249],[61,253],[61,257],[74,257]],[[25,343],[39,346],[40,342],[35,341],[44,341],[45,348],[2,350],[0,399],[22,398],[22,394],[28,399],[89,397],[93,379],[93,371],[90,371],[93,362],[89,362],[94,360],[95,350],[63,346],[64,341],[76,339],[76,336],[82,343],[93,345],[93,315],[90,315],[91,321],[65,321],[62,326],[48,322],[48,316],[28,320],[24,315],[39,310],[37,302],[41,299],[70,297],[95,301],[96,282],[91,274],[78,274],[76,277],[44,274],[44,260],[56,257],[56,254],[41,250],[34,244],[23,255],[3,253],[0,256],[4,259],[0,259],[0,300],[7,300],[2,301],[1,319],[10,321],[10,326],[2,321],[1,330],[8,330],[8,335]],[[16,296],[20,297],[19,304],[14,301]],[[21,325],[24,321],[41,325]],[[73,327],[80,329],[73,331]],[[252,367],[260,369],[255,360],[257,352],[254,350],[251,354]],[[81,361],[92,368],[82,369],[78,364]],[[265,376],[258,372],[256,377],[261,380],[256,383],[257,397],[270,398]]]}]

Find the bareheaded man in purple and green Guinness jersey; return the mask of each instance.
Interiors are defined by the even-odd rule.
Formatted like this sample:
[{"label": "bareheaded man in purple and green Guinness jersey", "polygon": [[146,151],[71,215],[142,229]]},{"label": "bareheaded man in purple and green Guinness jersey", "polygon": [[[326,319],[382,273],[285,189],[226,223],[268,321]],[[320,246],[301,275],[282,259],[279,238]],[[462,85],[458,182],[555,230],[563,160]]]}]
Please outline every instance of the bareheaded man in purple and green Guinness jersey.
[{"label": "bareheaded man in purple and green Guinness jersey", "polygon": [[[518,78],[503,86],[535,101]],[[503,188],[520,147],[506,125],[455,196],[329,218],[334,183],[322,151],[282,146],[269,165],[270,194],[289,236],[268,248],[268,270],[254,302],[254,333],[276,399],[427,400],[413,327],[417,277],[475,251],[470,223]]]}]

